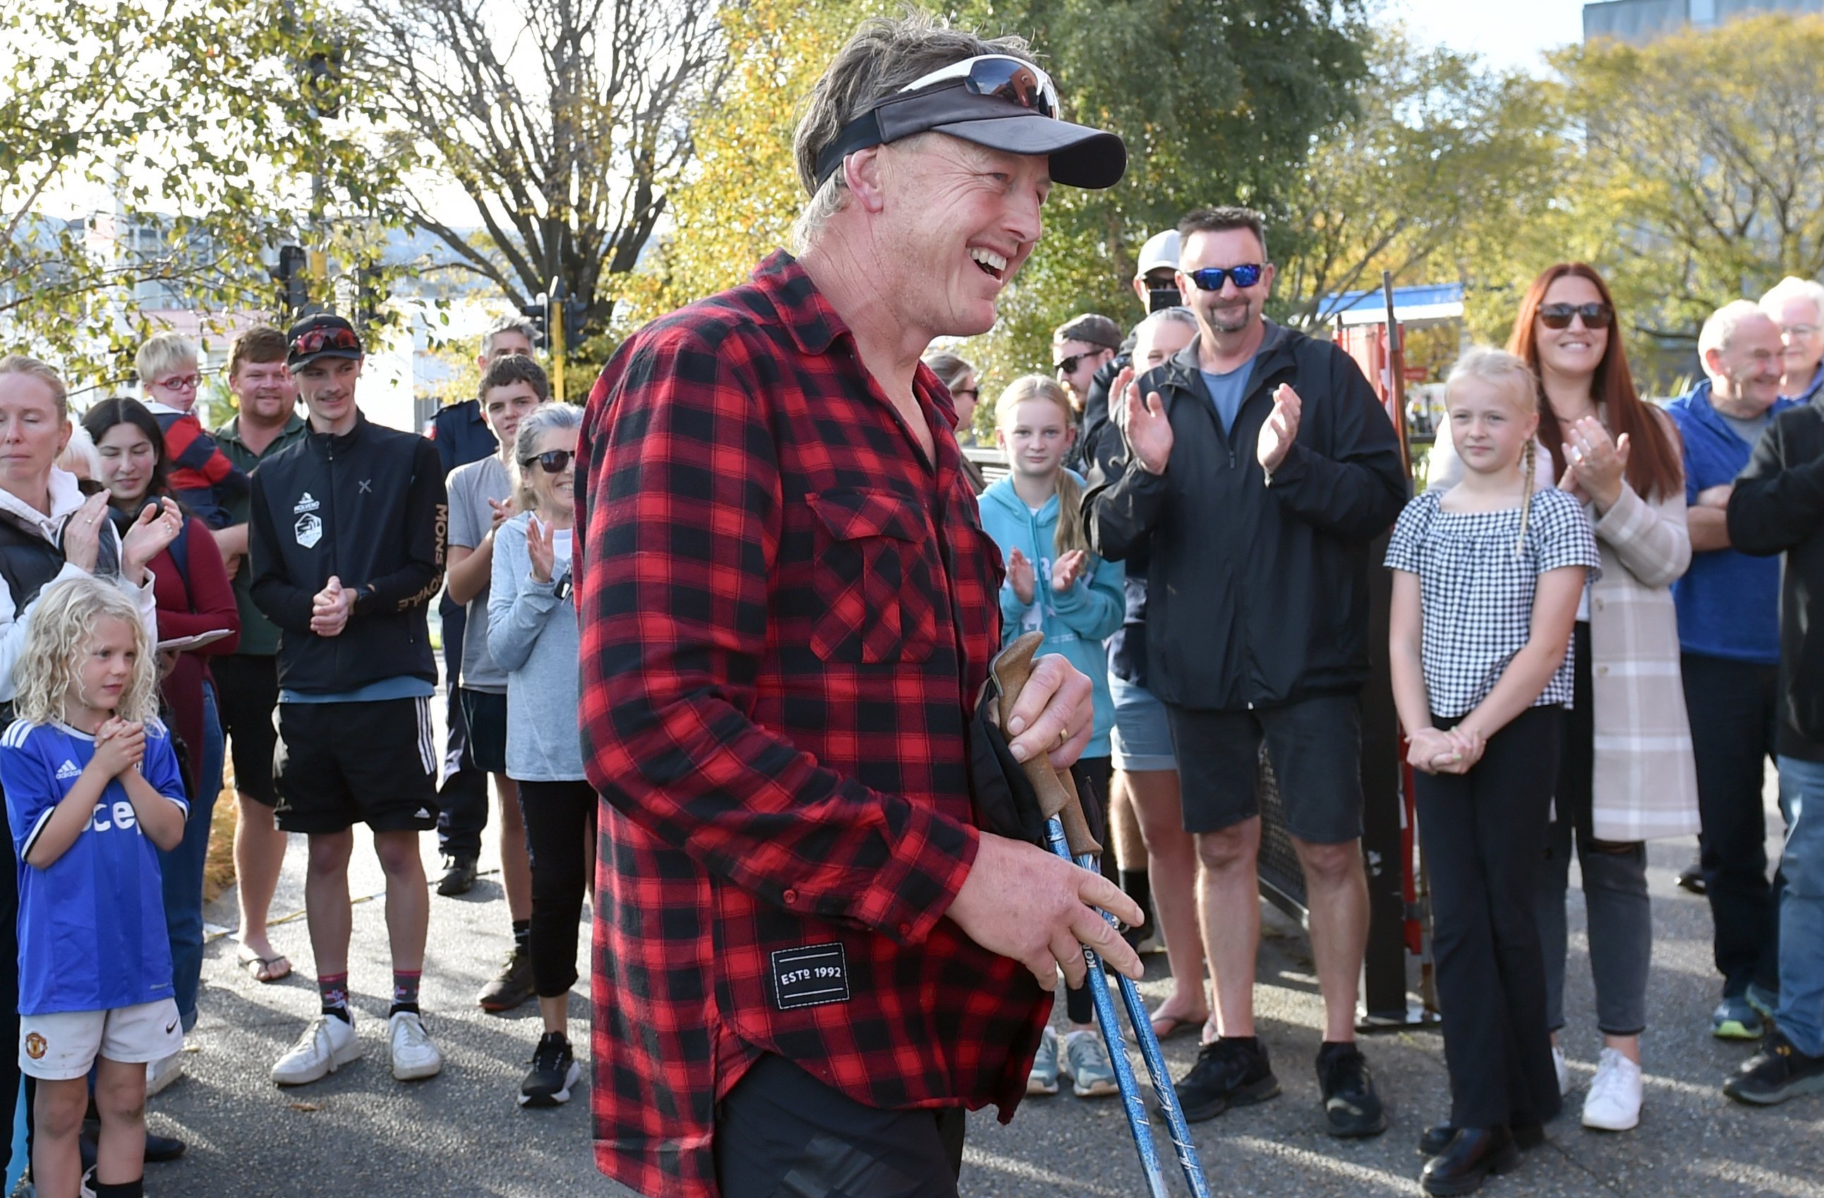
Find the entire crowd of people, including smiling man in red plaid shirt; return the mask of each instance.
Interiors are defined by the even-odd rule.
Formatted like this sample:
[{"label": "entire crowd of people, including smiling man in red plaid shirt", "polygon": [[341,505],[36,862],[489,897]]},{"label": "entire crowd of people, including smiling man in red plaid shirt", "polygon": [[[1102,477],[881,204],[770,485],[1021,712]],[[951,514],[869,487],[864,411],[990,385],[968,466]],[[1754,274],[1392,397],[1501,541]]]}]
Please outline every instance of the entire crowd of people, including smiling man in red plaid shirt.
[{"label": "entire crowd of people, including smiling man in red plaid shirt", "polygon": [[[954,1194],[963,1107],[1010,1118],[1062,1078],[1114,1094],[1082,946],[1127,976],[1164,950],[1153,1030],[1200,1041],[1186,1118],[1275,1098],[1266,762],[1308,893],[1322,1125],[1381,1134],[1355,1045],[1381,569],[1452,1100],[1421,1136],[1425,1189],[1516,1167],[1570,1092],[1572,853],[1603,1036],[1583,1125],[1640,1121],[1658,839],[1700,837],[1709,1030],[1758,1041],[1724,1092],[1824,1090],[1824,286],[1720,308],[1705,379],[1656,405],[1600,274],[1545,270],[1507,348],[1452,367],[1414,496],[1357,365],[1264,315],[1264,219],[1204,208],[1142,248],[1129,332],[1073,317],[1049,370],[1000,392],[1009,474],[987,485],[959,447],[981,379],[927,346],[992,325],[1047,191],[1111,186],[1120,139],[1063,122],[1023,42],[907,16],[843,49],[795,150],[797,253],[629,337],[586,408],[553,401],[516,319],[430,436],[363,416],[361,336],[328,314],[235,339],[213,432],[181,337],[140,348],[144,398],[80,419],[55,370],[0,359],[0,1007],[20,1045],[0,1116],[24,1076],[40,1194],[137,1196],[144,1162],[182,1151],[144,1100],[197,1019],[230,762],[235,959],[257,983],[294,970],[268,917],[306,837],[321,1010],[277,1085],[367,1050],[356,824],[387,875],[390,1070],[441,1070],[430,890],[474,884],[492,815],[513,950],[476,999],[538,1003],[520,1105],[582,1076],[567,996],[593,895],[596,1160],[689,1198],[784,1178]],[[974,697],[1032,631],[1045,656],[996,735],[1071,773],[1100,877],[972,806]]]}]

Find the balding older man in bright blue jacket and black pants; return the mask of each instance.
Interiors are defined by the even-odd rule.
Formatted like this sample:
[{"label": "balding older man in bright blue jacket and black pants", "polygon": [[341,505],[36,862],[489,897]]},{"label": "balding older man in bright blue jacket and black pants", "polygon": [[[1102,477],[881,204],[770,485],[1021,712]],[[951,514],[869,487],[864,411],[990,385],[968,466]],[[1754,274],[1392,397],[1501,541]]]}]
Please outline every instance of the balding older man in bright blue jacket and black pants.
[{"label": "balding older man in bright blue jacket and black pants", "polygon": [[1691,525],[1691,569],[1673,584],[1673,600],[1724,977],[1711,1034],[1757,1039],[1780,985],[1760,799],[1778,720],[1780,563],[1733,549],[1726,509],[1760,432],[1797,399],[1778,398],[1778,326],[1746,299],[1704,323],[1698,352],[1709,377],[1665,408],[1684,436]]}]

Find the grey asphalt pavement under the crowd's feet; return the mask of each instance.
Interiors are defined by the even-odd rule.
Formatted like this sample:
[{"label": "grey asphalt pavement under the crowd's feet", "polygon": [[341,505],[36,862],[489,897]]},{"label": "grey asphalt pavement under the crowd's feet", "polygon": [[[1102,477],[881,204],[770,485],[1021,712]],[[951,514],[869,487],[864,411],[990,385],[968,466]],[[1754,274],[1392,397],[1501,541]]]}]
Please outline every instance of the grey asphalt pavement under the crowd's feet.
[{"label": "grey asphalt pavement under the crowd's feet", "polygon": [[[1777,817],[1773,822],[1777,826]],[[434,877],[434,837],[425,835],[423,844],[427,872]],[[303,850],[303,839],[294,837],[274,904],[275,917],[299,914],[274,928],[275,946],[290,954],[295,966],[292,977],[259,985],[237,968],[232,939],[210,946],[186,1076],[151,1100],[153,1127],[181,1134],[190,1151],[175,1163],[148,1167],[148,1194],[627,1194],[595,1171],[587,1087],[554,1110],[522,1110],[514,1103],[538,1039],[534,1005],[489,1016],[474,1003],[511,939],[492,842],[482,866],[496,872],[483,875],[461,899],[432,895],[423,1010],[445,1054],[443,1074],[399,1083],[387,1069],[385,883],[372,846],[363,841],[352,866],[352,892],[359,901],[350,983],[367,1058],[316,1085],[286,1090],[272,1085],[266,1070],[317,1008],[301,917]],[[1674,884],[1689,859],[1691,844],[1685,842],[1651,850],[1656,943],[1645,1038],[1647,1105],[1640,1129],[1603,1134],[1578,1125],[1600,1036],[1581,893],[1574,892],[1565,1047],[1578,1089],[1567,1101],[1567,1114],[1549,1127],[1550,1143],[1529,1152],[1518,1172],[1492,1180],[1487,1194],[1824,1198],[1824,1100],[1802,1098],[1757,1110],[1722,1096],[1722,1079],[1749,1048],[1709,1036],[1707,1016],[1716,997],[1709,910]],[[210,919],[232,926],[233,912],[230,890],[210,908]],[[578,935],[587,959],[586,928],[578,928]],[[1164,955],[1151,955],[1142,988],[1155,1003],[1166,994],[1164,972]],[[1390,1105],[1392,1127],[1373,1140],[1339,1141],[1322,1132],[1317,1105],[1313,1061],[1322,1005],[1310,945],[1295,924],[1271,910],[1260,948],[1257,1005],[1259,1032],[1284,1094],[1193,1129],[1213,1193],[1262,1198],[1417,1194],[1415,1140],[1426,1123],[1448,1110],[1439,1036],[1392,1032],[1364,1041]],[[582,981],[571,1003],[571,1038],[578,1045],[589,1041],[587,1008],[587,981]],[[1167,1045],[1173,1072],[1187,1069],[1193,1056],[1189,1038]],[[1144,1074],[1138,1054],[1135,1063]],[[1187,1193],[1178,1178],[1171,1187],[1175,1194]],[[1007,1127],[992,1112],[970,1118],[961,1193],[969,1198],[1127,1198],[1145,1191],[1118,1101],[1078,1100],[1065,1085],[1056,1098],[1023,1103]]]}]

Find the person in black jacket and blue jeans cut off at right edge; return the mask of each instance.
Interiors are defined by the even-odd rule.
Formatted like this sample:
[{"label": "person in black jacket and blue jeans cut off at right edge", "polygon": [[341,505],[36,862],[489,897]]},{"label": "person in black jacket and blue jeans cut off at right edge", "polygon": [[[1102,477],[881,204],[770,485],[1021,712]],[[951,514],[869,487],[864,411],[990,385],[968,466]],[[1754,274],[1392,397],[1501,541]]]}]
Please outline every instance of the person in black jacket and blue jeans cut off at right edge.
[{"label": "person in black jacket and blue jeans cut off at right edge", "polygon": [[1824,1090],[1824,394],[1788,408],[1729,492],[1729,543],[1780,569],[1780,1003],[1724,1094],[1771,1105]]}]

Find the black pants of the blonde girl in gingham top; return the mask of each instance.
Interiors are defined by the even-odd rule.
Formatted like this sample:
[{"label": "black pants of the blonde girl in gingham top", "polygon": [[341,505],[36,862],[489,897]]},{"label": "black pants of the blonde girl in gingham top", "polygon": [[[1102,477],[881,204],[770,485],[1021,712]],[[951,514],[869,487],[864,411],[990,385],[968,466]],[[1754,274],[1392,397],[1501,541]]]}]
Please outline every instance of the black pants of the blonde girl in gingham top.
[{"label": "black pants of the blonde girl in gingham top", "polygon": [[1457,1127],[1543,1123],[1561,1105],[1532,914],[1561,731],[1561,707],[1529,707],[1468,773],[1417,775]]}]

